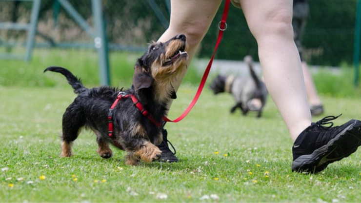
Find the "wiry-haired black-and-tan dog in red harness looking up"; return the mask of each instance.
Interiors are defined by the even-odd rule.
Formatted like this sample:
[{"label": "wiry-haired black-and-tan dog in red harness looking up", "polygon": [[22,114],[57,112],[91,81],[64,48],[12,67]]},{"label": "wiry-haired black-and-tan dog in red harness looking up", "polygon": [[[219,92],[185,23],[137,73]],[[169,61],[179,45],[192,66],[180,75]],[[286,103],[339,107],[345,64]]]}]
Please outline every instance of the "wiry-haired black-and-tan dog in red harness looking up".
[{"label": "wiry-haired black-and-tan dog in red harness looking up", "polygon": [[[109,148],[111,143],[128,152],[126,164],[159,160],[161,151],[157,145],[162,141],[161,122],[166,104],[174,94],[172,83],[187,68],[187,58],[184,35],[164,43],[152,42],[136,62],[133,84],[127,90],[107,86],[88,89],[66,69],[46,68],[44,72],[64,75],[78,94],[62,118],[60,156],[72,156],[73,142],[80,130],[87,127],[97,135],[97,152],[102,158],[113,156]],[[113,110],[109,110],[111,107]]]}]

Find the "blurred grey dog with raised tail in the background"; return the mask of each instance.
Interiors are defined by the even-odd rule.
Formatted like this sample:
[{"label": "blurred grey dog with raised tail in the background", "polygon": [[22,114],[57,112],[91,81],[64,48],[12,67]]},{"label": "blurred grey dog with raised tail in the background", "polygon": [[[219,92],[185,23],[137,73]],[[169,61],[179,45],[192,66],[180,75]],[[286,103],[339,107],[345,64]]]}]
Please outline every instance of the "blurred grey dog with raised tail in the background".
[{"label": "blurred grey dog with raised tail in the background", "polygon": [[[211,82],[210,88],[214,94],[228,92],[233,95],[236,104],[231,108],[231,113],[234,113],[237,108],[241,109],[243,115],[247,115],[248,111],[258,111],[257,118],[260,118],[267,100],[268,91],[264,82],[257,77],[253,70],[252,57],[244,57],[244,62],[249,67],[251,77],[218,75]],[[261,101],[260,107],[252,105],[254,99]]]}]

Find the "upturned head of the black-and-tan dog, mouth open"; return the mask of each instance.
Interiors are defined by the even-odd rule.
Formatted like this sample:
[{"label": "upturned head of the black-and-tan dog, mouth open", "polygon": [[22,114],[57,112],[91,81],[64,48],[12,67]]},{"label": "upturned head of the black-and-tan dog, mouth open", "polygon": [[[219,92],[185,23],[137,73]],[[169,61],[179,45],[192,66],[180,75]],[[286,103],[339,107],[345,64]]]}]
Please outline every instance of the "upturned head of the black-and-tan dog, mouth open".
[{"label": "upturned head of the black-and-tan dog, mouth open", "polygon": [[152,42],[135,65],[133,87],[136,91],[150,86],[160,100],[170,97],[172,83],[186,70],[188,59],[185,35],[177,35],[166,42]]}]

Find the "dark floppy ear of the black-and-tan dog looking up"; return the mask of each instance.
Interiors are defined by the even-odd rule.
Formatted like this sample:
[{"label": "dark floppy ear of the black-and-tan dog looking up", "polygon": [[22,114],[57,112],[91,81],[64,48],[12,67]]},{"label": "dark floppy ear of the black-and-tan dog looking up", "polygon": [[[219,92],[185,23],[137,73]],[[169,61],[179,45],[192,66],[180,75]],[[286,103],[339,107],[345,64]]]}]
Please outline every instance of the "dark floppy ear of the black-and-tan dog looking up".
[{"label": "dark floppy ear of the black-and-tan dog looking up", "polygon": [[153,77],[143,70],[139,63],[134,67],[133,86],[135,91],[150,87],[154,82]]}]

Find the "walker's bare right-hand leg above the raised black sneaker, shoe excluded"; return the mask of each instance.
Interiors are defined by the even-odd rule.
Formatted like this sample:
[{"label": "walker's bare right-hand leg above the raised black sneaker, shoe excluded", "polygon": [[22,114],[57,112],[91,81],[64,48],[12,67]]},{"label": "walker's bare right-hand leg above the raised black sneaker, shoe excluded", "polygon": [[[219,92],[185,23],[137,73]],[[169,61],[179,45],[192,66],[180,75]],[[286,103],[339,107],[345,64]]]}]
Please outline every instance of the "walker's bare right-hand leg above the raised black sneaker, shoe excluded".
[{"label": "walker's bare right-hand leg above the raised black sneaker, shoe excluded", "polygon": [[301,60],[293,40],[292,0],[241,0],[256,38],[268,91],[293,141],[311,124]]}]

